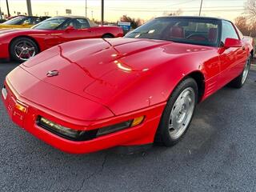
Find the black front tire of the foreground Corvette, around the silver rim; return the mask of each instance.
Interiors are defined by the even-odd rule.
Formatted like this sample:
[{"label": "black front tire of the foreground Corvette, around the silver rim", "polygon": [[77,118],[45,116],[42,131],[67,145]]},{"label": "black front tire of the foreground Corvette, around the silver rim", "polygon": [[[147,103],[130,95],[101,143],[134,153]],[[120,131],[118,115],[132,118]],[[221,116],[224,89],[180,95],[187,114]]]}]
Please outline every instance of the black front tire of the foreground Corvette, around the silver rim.
[{"label": "black front tire of the foreground Corvette, around the silver rim", "polygon": [[[176,100],[178,97],[180,97],[180,94],[183,93],[183,91],[187,89],[193,89],[194,90],[194,109],[190,116],[190,120],[186,123],[186,128],[183,130],[182,134],[178,138],[172,138],[170,136],[170,114],[172,110],[174,109],[174,104],[176,103]],[[198,84],[194,81],[193,78],[185,78],[178,84],[178,86],[175,88],[173,93],[170,95],[170,98],[166,104],[166,108],[162,113],[162,118],[158,126],[158,131],[155,136],[155,142],[161,143],[165,146],[174,146],[186,133],[186,130],[190,126],[190,122],[194,116],[194,110],[198,103]],[[192,111],[192,110],[191,110]]]}]

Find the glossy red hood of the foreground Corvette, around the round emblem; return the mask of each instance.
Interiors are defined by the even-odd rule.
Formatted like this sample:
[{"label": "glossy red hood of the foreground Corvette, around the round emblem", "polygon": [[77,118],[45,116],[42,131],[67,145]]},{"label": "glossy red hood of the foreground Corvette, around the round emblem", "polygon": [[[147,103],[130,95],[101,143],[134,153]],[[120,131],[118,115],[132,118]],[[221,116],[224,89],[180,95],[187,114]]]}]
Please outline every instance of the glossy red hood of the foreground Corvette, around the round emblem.
[{"label": "glossy red hood of the foreground Corvette, around the round emblem", "polygon": [[[110,99],[150,70],[182,54],[206,49],[135,38],[87,39],[46,50],[22,68],[43,82],[108,106]],[[58,70],[58,76],[47,77],[52,70]]]}]

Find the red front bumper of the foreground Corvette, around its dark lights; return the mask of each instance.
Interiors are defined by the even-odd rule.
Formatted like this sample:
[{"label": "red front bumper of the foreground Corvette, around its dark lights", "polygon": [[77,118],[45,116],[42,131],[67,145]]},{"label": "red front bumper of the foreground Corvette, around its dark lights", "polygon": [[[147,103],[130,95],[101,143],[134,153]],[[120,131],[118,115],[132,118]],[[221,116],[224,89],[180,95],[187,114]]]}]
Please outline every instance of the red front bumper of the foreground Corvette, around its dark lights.
[{"label": "red front bumper of the foreground Corvette, around its dark lights", "polygon": [[[8,85],[5,82],[5,87],[7,96],[4,98],[2,95],[2,101],[6,106],[6,110],[11,120],[18,126],[21,126],[30,132],[30,134],[40,138],[42,141],[58,148],[59,150],[71,154],[86,154],[114,146],[138,146],[154,142],[154,134],[158,128],[162,111],[166,106],[166,103],[162,103],[130,114],[123,114],[98,121],[71,124],[70,118],[63,118],[62,114],[56,114],[55,112],[51,112],[49,109],[38,106],[34,102],[30,102],[26,98],[22,98],[22,96],[15,91],[14,87],[10,85],[10,82],[8,82]],[[20,110],[15,108],[15,103],[17,101],[26,105],[26,112],[22,113]],[[50,131],[43,129],[36,123],[38,116],[42,116],[53,122],[58,122],[60,125],[72,127],[75,130],[94,130],[99,127],[114,125],[118,122],[124,122],[130,118],[136,118],[142,115],[145,115],[146,118],[139,126],[134,126],[132,128],[127,128],[126,130],[120,130],[112,134],[107,134],[102,137],[82,142],[62,138],[57,134],[53,134]],[[77,120],[71,122],[76,121]]]}]

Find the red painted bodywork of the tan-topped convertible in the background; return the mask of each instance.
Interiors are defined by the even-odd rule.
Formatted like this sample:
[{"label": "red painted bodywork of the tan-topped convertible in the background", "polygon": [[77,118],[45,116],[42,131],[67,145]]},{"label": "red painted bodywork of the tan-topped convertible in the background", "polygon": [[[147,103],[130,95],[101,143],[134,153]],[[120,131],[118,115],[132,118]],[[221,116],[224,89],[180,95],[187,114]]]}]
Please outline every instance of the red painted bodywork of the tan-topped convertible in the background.
[{"label": "red painted bodywork of the tan-topped convertible in the background", "polygon": [[112,34],[115,38],[122,37],[123,31],[117,26],[94,26],[88,29],[72,30],[35,30],[12,29],[0,30],[0,58],[10,58],[10,42],[14,38],[27,37],[38,44],[40,51],[47,50],[63,42],[86,38],[102,38],[104,34]]}]

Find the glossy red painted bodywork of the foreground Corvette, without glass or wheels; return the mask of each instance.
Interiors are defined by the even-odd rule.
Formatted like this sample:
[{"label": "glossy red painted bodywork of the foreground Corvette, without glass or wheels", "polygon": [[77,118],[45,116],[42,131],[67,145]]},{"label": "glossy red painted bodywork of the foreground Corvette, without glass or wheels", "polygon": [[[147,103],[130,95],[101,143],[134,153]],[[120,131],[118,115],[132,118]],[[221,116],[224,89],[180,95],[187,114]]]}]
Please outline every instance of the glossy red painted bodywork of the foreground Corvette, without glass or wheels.
[{"label": "glossy red painted bodywork of the foreground Corvette, without glass or wheels", "polygon": [[[166,101],[183,78],[203,75],[203,100],[241,74],[251,49],[241,42],[245,49],[129,38],[68,42],[10,72],[8,97],[2,99],[14,122],[66,152],[147,144],[154,142]],[[49,70],[58,70],[59,75],[47,78]],[[22,121],[12,110],[16,99],[28,106]],[[146,119],[134,128],[72,142],[36,126],[38,115],[76,130],[94,130],[142,115]]]}]

